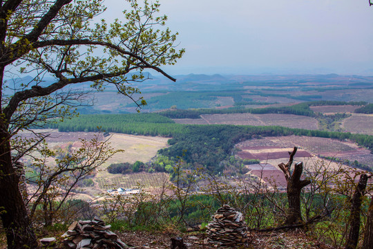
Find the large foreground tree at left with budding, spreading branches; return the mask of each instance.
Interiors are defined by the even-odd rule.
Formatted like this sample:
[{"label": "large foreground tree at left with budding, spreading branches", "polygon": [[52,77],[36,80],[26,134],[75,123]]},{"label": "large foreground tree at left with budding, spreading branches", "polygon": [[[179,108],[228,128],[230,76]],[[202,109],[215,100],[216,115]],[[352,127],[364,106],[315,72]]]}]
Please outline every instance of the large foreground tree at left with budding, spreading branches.
[{"label": "large foreground tree at left with budding, spreading branches", "polygon": [[[175,80],[160,66],[175,64],[184,50],[175,50],[176,35],[163,28],[166,17],[157,15],[159,4],[128,0],[123,22],[95,23],[103,2],[0,1],[0,215],[8,248],[37,245],[13,168],[12,138],[31,124],[69,116],[70,107],[86,96],[77,90],[79,83],[98,90],[110,84],[135,100],[139,91],[131,82],[144,80],[142,70]],[[131,71],[138,73],[128,75]],[[36,76],[25,82],[20,80],[25,73]],[[145,104],[141,98],[136,102]],[[39,141],[19,149],[17,158]]]}]

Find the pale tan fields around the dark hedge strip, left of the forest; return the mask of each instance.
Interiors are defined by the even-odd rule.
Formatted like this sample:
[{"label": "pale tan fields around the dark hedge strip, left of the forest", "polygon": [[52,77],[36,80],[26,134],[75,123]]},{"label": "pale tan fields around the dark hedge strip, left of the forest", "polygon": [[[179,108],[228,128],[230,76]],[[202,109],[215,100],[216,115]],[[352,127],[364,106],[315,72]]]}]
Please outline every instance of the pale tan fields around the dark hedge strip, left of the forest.
[{"label": "pale tan fields around the dark hedge strip, left of the forest", "polygon": [[[79,188],[79,198],[89,199],[98,194],[103,194],[105,190],[117,187],[133,188],[137,184],[141,184],[143,187],[159,187],[166,178],[168,181],[169,176],[164,173],[135,173],[128,175],[121,174],[110,174],[106,168],[112,163],[135,163],[140,160],[142,162],[148,162],[157,154],[159,149],[167,146],[167,140],[169,138],[154,137],[154,136],[133,136],[122,133],[110,133],[110,136],[104,137],[102,133],[95,132],[59,132],[57,129],[44,129],[38,130],[50,134],[46,138],[46,142],[52,148],[64,148],[68,145],[72,145],[74,148],[79,148],[81,143],[79,138],[90,140],[96,138],[98,140],[107,140],[111,143],[111,147],[115,149],[124,149],[123,152],[119,152],[109,158],[104,165],[97,169],[93,182],[93,187]],[[22,133],[25,138],[31,138],[33,133],[25,132]]]}]

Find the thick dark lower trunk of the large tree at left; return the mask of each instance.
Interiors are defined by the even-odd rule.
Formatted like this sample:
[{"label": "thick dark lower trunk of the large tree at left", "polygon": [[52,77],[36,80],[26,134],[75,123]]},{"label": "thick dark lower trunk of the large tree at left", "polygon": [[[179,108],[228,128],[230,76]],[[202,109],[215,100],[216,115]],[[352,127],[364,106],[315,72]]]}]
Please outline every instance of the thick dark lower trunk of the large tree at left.
[{"label": "thick dark lower trunk of the large tree at left", "polygon": [[36,248],[37,239],[19,192],[19,179],[10,156],[9,137],[4,130],[0,131],[0,216],[8,248]]}]

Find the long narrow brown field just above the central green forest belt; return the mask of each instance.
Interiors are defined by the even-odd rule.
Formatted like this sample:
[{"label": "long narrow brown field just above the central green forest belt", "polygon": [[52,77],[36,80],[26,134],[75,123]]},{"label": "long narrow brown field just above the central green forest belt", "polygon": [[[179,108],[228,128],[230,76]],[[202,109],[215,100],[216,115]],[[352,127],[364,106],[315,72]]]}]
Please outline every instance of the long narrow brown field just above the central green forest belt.
[{"label": "long narrow brown field just above the central green forest belt", "polygon": [[200,119],[175,119],[180,124],[235,124],[269,126],[278,125],[289,128],[318,129],[318,121],[315,118],[291,114],[206,114]]}]

